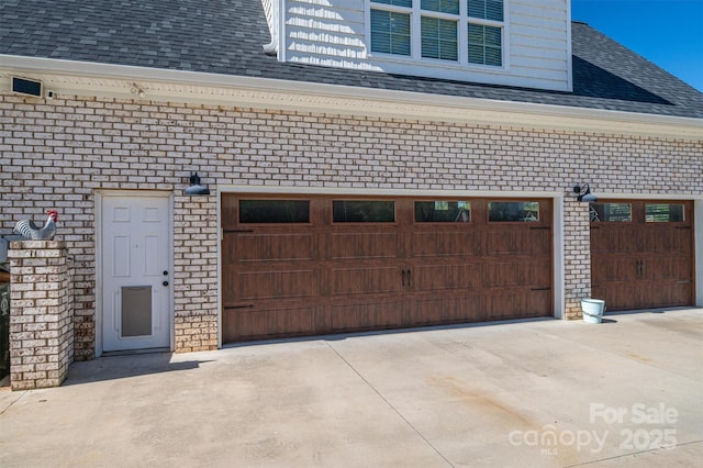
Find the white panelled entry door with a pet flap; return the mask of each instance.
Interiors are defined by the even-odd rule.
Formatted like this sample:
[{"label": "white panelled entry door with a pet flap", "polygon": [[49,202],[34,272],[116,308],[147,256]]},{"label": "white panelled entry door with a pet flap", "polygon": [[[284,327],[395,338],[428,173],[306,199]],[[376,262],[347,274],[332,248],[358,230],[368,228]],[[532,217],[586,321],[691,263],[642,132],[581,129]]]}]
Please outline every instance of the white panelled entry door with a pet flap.
[{"label": "white panelled entry door with a pet flap", "polygon": [[103,352],[170,347],[169,199],[103,196]]}]

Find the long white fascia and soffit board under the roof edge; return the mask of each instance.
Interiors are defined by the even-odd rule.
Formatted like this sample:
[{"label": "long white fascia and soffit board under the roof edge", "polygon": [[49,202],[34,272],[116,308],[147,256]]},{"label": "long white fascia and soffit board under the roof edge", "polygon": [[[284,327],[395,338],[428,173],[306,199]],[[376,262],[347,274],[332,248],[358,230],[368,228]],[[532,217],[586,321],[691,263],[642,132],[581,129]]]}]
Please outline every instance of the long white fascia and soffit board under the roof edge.
[{"label": "long white fascia and soffit board under the roof edge", "polygon": [[135,99],[137,85],[146,101],[703,141],[703,119],[0,55],[0,79],[12,74],[43,79],[59,97]]}]

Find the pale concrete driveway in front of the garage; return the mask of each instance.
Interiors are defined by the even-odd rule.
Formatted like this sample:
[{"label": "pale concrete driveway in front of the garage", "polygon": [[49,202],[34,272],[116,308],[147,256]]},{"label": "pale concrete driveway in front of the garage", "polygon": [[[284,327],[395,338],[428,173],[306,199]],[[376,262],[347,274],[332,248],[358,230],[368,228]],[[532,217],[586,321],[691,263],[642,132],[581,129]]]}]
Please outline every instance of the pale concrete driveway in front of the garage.
[{"label": "pale concrete driveway in front of the garage", "polygon": [[2,467],[702,465],[701,309],[109,357],[0,390]]}]

